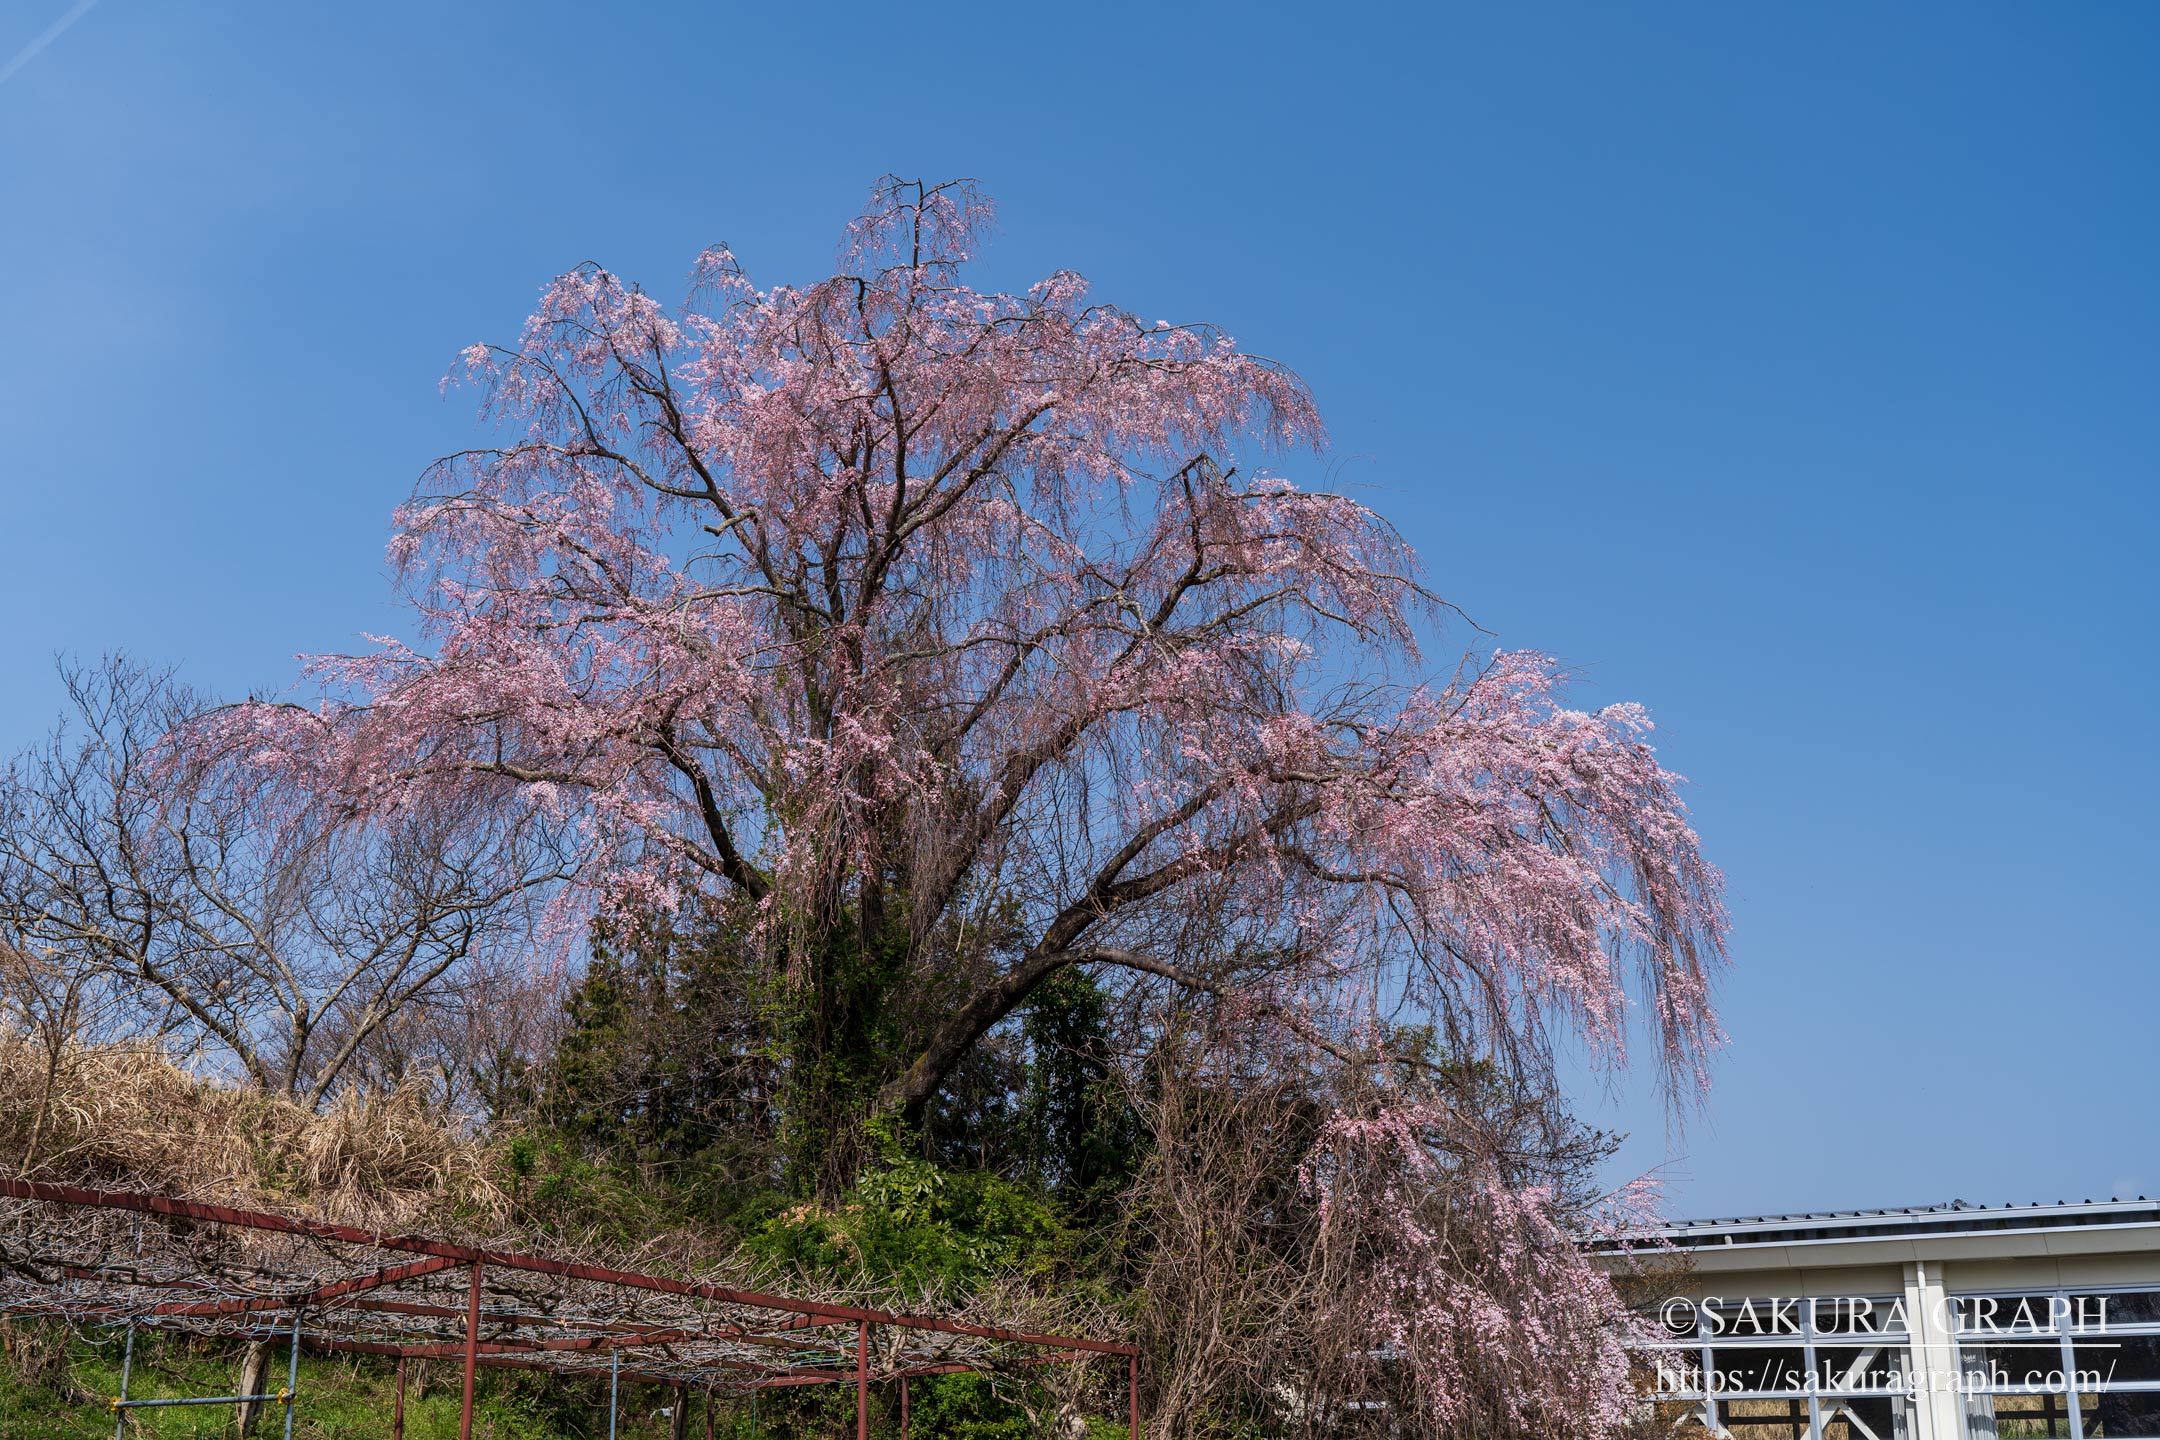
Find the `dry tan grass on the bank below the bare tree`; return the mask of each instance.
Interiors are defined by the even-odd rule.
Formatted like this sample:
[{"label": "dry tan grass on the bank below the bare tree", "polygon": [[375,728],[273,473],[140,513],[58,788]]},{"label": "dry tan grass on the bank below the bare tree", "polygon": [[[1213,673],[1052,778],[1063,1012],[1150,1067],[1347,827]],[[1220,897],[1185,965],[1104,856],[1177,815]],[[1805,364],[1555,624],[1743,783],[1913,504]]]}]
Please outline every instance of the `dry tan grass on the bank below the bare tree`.
[{"label": "dry tan grass on the bank below the bare tree", "polygon": [[311,1112],[205,1082],[160,1049],[0,1032],[0,1170],[361,1226],[488,1224],[486,1146],[406,1086]]}]

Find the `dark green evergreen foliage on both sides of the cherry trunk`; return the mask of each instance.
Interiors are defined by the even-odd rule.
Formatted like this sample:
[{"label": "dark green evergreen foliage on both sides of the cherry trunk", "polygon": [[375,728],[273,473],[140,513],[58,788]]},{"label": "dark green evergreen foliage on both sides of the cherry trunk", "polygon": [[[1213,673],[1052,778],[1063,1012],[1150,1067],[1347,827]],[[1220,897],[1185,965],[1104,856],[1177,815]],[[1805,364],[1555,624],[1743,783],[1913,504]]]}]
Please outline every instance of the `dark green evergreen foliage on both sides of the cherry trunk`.
[{"label": "dark green evergreen foliage on both sides of the cherry trunk", "polygon": [[[529,1123],[508,1146],[510,1192],[534,1213],[600,1226],[637,1209],[633,1192],[663,1192],[678,1213],[739,1237],[812,1194],[836,1213],[862,1207],[849,1187],[866,1161],[881,1157],[901,1172],[901,1146],[868,1103],[909,1054],[912,1004],[894,989],[901,967],[888,948],[834,937],[832,950],[801,984],[838,987],[845,1004],[791,997],[762,978],[726,915],[603,930]],[[801,1028],[806,1015],[821,1017],[814,1032]],[[1052,978],[976,1045],[909,1146],[929,1164],[920,1174],[1009,1183],[955,1194],[955,1213],[998,1224],[1013,1209],[996,1198],[1007,1192],[1050,1198],[1078,1222],[1106,1213],[1138,1164],[1145,1129],[1119,1090],[1093,978],[1078,969]],[[810,1164],[804,1153],[825,1159]],[[838,1153],[845,1181],[832,1164]],[[903,1265],[922,1267],[950,1269],[922,1256]]]}]

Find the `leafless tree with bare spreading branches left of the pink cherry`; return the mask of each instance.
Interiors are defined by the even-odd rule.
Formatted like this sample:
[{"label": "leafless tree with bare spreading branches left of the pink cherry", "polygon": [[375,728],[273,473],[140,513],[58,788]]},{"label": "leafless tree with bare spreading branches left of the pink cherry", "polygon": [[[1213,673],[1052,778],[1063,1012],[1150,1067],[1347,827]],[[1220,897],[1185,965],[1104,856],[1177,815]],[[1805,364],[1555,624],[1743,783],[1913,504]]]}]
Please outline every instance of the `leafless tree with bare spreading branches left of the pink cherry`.
[{"label": "leafless tree with bare spreading branches left of the pink cherry", "polygon": [[0,946],[136,1032],[320,1105],[544,905],[559,853],[540,812],[359,814],[199,743],[212,706],[168,671],[63,674],[69,715],[0,779]]}]

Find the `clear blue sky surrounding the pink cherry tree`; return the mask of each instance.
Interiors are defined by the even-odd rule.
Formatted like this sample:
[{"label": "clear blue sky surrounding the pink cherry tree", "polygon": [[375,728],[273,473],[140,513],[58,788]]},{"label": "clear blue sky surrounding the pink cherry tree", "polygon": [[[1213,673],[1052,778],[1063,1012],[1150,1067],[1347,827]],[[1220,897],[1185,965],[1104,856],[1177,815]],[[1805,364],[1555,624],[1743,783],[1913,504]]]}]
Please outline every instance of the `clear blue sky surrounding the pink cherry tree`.
[{"label": "clear blue sky surrounding the pink cherry tree", "polygon": [[2154,1194],[2156,58],[2132,2],[99,0],[0,80],[0,747],[56,652],[395,626],[436,380],[549,274],[806,279],[976,175],[989,283],[1292,363],[1309,468],[1652,706],[1732,1047],[1685,1133],[1585,1103],[1676,1211]]}]

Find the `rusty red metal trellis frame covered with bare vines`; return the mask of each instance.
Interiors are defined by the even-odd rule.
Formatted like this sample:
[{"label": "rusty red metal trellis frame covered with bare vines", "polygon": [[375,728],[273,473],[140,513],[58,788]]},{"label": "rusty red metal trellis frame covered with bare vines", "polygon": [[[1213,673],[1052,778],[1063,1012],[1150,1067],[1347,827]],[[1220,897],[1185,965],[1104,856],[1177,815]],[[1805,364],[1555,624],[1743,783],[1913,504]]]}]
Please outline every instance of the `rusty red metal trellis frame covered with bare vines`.
[{"label": "rusty red metal trellis frame covered with bare vines", "polygon": [[[1119,1341],[775,1295],[160,1194],[0,1177],[0,1200],[15,1200],[0,1205],[0,1315],[125,1326],[121,1393],[110,1403],[114,1440],[123,1440],[127,1410],[270,1401],[285,1408],[292,1440],[302,1345],[397,1362],[393,1440],[404,1436],[404,1369],[415,1358],[460,1360],[460,1440],[473,1434],[473,1380],[484,1367],[592,1377],[605,1371],[611,1438],[622,1380],[674,1386],[678,1405],[702,1390],[706,1429],[717,1397],[747,1397],[756,1408],[760,1390],[851,1384],[855,1440],[868,1440],[873,1384],[899,1386],[905,1436],[914,1377],[1089,1360],[1123,1360],[1128,1429],[1132,1440],[1140,1436],[1138,1349]],[[136,1226],[134,1259],[114,1259],[127,1254],[119,1244],[123,1224]],[[289,1328],[285,1388],[134,1399],[134,1343],[145,1328],[227,1339],[283,1339]]]}]

